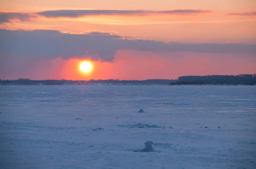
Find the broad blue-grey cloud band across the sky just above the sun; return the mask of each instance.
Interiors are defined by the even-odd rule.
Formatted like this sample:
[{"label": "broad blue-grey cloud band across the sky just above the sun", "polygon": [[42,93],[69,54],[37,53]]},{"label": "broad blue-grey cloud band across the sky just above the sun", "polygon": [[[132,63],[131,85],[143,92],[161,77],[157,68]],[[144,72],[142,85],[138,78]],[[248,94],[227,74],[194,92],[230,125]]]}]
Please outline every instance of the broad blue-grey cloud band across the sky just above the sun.
[{"label": "broad blue-grey cloud band across the sky just above the sun", "polygon": [[90,57],[112,62],[119,50],[147,52],[198,52],[220,54],[256,54],[256,45],[176,43],[154,40],[128,39],[118,35],[90,32],[85,34],[61,33],[54,30],[0,29],[0,54],[14,57],[44,57],[64,59]]}]

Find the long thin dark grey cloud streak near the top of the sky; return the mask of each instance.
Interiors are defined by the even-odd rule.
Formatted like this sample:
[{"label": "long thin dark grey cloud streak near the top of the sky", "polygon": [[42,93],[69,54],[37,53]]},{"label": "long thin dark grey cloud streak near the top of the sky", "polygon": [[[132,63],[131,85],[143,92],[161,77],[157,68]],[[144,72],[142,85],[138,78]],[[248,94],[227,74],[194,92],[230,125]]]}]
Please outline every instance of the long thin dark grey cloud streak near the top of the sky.
[{"label": "long thin dark grey cloud streak near the top of the sky", "polygon": [[47,18],[56,17],[84,17],[90,15],[148,15],[148,14],[197,14],[209,13],[209,10],[180,9],[167,11],[143,11],[143,10],[55,10],[42,11],[35,14]]}]

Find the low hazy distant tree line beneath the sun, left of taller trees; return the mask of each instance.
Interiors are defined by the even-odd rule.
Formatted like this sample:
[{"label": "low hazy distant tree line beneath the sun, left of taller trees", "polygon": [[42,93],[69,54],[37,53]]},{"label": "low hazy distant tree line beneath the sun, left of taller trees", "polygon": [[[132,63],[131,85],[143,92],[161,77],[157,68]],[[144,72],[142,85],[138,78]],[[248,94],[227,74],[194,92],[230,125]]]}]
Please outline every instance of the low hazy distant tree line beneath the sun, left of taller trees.
[{"label": "low hazy distant tree line beneath the sun, left of taller trees", "polygon": [[147,79],[147,80],[119,80],[119,79],[107,79],[107,80],[31,80],[31,79],[16,79],[16,80],[1,80],[2,85],[90,85],[90,84],[162,84],[168,85],[175,80],[168,79]]}]

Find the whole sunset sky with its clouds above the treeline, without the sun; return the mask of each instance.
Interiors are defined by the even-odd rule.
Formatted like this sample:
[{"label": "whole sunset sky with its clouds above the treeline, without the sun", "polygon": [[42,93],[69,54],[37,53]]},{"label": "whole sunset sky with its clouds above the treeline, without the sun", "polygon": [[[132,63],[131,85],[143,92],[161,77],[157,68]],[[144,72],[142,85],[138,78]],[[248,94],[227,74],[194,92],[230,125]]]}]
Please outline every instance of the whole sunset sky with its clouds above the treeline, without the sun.
[{"label": "whole sunset sky with its clouds above the treeline, without the sun", "polygon": [[242,73],[256,73],[256,0],[0,1],[0,79]]}]

